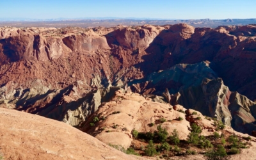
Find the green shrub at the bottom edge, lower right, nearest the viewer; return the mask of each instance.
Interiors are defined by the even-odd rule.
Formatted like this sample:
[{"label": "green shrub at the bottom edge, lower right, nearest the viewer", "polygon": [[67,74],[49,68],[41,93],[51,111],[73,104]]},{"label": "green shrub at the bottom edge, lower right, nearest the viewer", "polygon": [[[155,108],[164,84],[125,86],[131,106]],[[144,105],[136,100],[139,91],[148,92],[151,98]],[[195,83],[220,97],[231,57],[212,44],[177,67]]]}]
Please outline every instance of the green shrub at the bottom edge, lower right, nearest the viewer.
[{"label": "green shrub at the bottom edge, lower right, nearest the viewer", "polygon": [[227,160],[230,156],[227,155],[225,148],[222,145],[218,145],[215,150],[209,150],[204,155],[207,160]]}]

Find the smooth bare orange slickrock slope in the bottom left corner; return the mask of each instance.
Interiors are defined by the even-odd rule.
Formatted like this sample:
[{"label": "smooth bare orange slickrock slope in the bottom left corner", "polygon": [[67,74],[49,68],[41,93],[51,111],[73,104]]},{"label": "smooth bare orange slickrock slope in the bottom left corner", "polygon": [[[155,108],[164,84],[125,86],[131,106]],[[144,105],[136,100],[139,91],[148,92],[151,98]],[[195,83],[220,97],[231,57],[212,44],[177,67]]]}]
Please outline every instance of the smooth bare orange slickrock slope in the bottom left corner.
[{"label": "smooth bare orange slickrock slope in the bottom left corner", "polygon": [[38,115],[0,108],[4,159],[145,159],[126,155],[74,127]]}]

